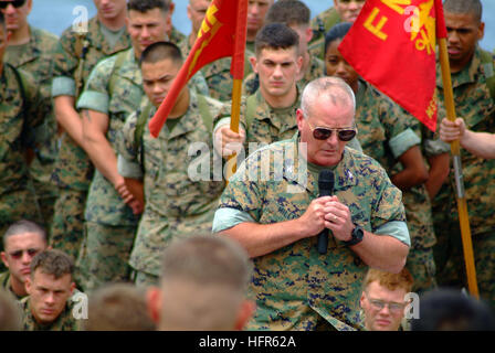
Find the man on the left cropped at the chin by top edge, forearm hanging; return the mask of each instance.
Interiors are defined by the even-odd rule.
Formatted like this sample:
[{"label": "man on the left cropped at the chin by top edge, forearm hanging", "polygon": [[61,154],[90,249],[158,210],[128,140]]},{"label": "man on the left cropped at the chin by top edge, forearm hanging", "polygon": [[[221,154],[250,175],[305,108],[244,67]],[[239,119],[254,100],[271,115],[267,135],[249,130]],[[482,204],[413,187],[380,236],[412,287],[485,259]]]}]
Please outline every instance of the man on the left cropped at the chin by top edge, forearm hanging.
[{"label": "man on the left cropped at the chin by top edge, forearm hanging", "polygon": [[[125,29],[126,1],[114,1],[113,10],[98,14],[78,28],[66,29],[60,39],[53,57],[55,77],[52,97],[57,121],[66,132],[62,135],[59,157],[52,181],[59,188],[50,244],[77,258],[84,234],[84,205],[94,168],[82,143],[82,125],[75,103],[89,77],[93,67],[102,58],[130,46]],[[113,33],[113,30],[118,30]],[[63,113],[63,114],[62,114]],[[72,128],[69,120],[77,126]],[[74,132],[75,131],[75,132]]]}]

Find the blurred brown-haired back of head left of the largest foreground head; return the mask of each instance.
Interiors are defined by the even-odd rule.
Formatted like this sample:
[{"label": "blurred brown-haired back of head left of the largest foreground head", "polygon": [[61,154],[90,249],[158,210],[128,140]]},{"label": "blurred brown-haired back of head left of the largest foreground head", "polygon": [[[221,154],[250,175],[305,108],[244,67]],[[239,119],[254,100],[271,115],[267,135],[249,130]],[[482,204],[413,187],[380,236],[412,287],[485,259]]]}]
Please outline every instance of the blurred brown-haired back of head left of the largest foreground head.
[{"label": "blurred brown-haired back of head left of the largest foreground head", "polygon": [[155,331],[144,290],[130,284],[112,284],[89,296],[86,331]]}]

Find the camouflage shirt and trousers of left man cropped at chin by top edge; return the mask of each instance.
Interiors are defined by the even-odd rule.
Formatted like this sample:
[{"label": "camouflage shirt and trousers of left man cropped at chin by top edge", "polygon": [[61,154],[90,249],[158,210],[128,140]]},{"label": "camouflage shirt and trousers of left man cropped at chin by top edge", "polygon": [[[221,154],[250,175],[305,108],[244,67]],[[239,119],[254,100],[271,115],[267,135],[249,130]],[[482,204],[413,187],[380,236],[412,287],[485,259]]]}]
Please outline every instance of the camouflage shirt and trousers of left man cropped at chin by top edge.
[{"label": "camouflage shirt and trousers of left man cropped at chin by top edge", "polygon": [[[84,40],[88,44],[85,55],[82,54]],[[109,46],[96,17],[88,21],[87,33],[83,39],[69,28],[62,33],[57,53],[54,56],[57,77],[53,81],[52,95],[77,98],[96,63],[129,46],[130,39],[127,32],[113,47]],[[84,60],[81,56],[84,56]],[[55,89],[56,83],[62,83],[61,85],[67,88]],[[78,83],[81,83],[81,89],[76,87]],[[74,258],[77,258],[84,237],[84,205],[92,178],[93,165],[86,152],[67,133],[64,133],[52,174],[52,180],[59,188],[59,199],[55,203],[50,245]]]}]

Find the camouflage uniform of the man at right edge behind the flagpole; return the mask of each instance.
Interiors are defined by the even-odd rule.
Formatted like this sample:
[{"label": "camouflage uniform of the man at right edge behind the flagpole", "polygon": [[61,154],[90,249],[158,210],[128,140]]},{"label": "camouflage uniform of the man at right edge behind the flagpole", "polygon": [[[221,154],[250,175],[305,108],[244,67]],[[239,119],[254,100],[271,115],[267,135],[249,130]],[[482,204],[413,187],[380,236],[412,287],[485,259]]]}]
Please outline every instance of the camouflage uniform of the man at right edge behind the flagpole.
[{"label": "camouflage uniform of the man at right edge behind the flagpole", "polygon": [[[473,60],[459,73],[452,74],[455,111],[473,131],[495,131],[495,104],[486,85],[489,67],[481,64],[480,49]],[[493,71],[493,67],[492,67]],[[439,101],[443,103],[443,87],[438,68]],[[439,120],[442,116],[439,115]],[[439,121],[440,125],[440,121]],[[446,145],[443,152],[450,151]],[[439,152],[442,152],[439,150]],[[465,196],[473,237],[476,277],[482,298],[495,307],[495,160],[461,151]],[[432,201],[433,218],[439,244],[434,247],[439,282],[465,286],[464,256],[455,201],[454,173]]]}]

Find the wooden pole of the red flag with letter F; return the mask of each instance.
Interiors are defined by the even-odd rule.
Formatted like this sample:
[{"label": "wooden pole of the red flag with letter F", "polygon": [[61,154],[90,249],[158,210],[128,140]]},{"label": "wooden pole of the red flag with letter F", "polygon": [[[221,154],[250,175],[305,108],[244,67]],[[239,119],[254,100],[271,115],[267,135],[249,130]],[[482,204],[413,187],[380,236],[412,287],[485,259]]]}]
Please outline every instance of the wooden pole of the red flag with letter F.
[{"label": "wooden pole of the red flag with letter F", "polygon": [[[439,39],[440,66],[442,68],[443,96],[446,109],[446,117],[451,121],[455,121],[455,105],[452,89],[451,68],[449,63],[449,53],[446,49],[446,39]],[[455,172],[455,192],[457,201],[459,222],[461,225],[462,246],[464,250],[464,263],[467,274],[467,287],[470,293],[480,299],[476,267],[474,265],[473,242],[471,238],[470,220],[467,216],[467,203],[464,191],[464,181],[461,164],[461,147],[459,140],[451,142],[451,154],[454,163]]]}]

